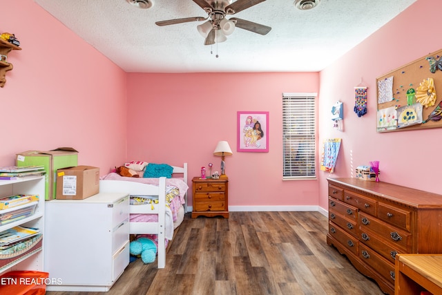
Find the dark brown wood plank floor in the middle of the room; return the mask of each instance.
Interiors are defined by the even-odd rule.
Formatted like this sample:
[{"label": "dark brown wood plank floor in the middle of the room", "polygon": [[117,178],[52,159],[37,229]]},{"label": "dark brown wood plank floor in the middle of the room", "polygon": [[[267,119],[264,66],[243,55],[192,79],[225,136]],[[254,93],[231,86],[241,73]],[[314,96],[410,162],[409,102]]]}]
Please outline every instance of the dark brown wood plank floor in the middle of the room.
[{"label": "dark brown wood plank floor in the middle of the room", "polygon": [[229,219],[186,214],[166,267],[138,259],[106,294],[383,294],[327,245],[327,229],[318,212],[231,212]]}]

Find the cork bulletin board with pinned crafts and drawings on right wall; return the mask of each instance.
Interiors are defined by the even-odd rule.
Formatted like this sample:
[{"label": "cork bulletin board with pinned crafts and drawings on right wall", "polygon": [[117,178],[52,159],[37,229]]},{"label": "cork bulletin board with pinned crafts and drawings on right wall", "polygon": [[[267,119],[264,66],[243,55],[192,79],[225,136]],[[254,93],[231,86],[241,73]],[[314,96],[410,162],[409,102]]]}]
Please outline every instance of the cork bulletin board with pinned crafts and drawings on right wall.
[{"label": "cork bulletin board with pinned crafts and drawings on right wall", "polygon": [[442,50],[376,79],[378,132],[442,127]]}]

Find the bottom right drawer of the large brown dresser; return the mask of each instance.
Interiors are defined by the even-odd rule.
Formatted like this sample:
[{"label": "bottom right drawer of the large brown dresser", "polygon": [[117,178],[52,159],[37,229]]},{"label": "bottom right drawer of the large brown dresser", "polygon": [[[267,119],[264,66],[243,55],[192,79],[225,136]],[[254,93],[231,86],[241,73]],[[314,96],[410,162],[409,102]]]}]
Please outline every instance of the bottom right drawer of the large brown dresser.
[{"label": "bottom right drawer of the large brown dresser", "polygon": [[359,257],[366,265],[372,267],[378,274],[381,274],[389,283],[394,286],[394,264],[388,262],[376,253],[373,249],[362,243],[359,245]]}]

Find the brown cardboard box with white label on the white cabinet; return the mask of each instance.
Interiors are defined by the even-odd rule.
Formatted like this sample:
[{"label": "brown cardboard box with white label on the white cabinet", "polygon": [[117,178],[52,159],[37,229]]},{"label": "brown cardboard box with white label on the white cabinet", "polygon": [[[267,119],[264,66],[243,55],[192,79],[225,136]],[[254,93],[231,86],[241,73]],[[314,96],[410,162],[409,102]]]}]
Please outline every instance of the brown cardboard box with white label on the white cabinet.
[{"label": "brown cardboard box with white label on the white cabinet", "polygon": [[75,166],[57,170],[57,200],[82,200],[99,192],[99,168]]}]

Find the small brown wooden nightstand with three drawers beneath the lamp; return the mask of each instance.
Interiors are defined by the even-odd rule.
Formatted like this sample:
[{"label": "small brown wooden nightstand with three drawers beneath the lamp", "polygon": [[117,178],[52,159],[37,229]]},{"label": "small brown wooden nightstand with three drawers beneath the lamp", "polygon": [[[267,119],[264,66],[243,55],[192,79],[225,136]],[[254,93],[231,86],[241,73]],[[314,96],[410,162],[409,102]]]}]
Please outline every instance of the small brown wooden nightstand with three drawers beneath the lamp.
[{"label": "small brown wooden nightstand with three drawers beneath the lamp", "polygon": [[223,216],[229,218],[227,179],[193,178],[192,218]]}]

